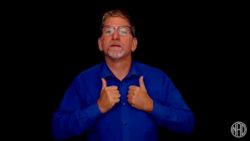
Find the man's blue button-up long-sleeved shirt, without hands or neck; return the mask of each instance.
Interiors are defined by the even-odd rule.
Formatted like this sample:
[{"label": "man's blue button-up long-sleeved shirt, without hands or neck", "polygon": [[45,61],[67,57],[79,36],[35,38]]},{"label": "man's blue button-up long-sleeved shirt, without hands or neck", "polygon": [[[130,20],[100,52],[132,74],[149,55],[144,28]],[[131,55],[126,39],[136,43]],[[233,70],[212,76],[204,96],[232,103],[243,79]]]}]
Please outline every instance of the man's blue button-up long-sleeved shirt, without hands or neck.
[{"label": "man's blue button-up long-sleeved shirt, without hands or neck", "polygon": [[[139,86],[140,76],[144,76],[148,95],[153,99],[150,113],[127,101],[129,86]],[[97,105],[101,78],[108,86],[117,86],[121,94],[120,102],[104,114]],[[135,61],[122,81],[104,62],[80,73],[66,91],[52,124],[53,136],[58,140],[86,134],[89,141],[156,141],[159,126],[191,133],[194,116],[164,72]]]}]

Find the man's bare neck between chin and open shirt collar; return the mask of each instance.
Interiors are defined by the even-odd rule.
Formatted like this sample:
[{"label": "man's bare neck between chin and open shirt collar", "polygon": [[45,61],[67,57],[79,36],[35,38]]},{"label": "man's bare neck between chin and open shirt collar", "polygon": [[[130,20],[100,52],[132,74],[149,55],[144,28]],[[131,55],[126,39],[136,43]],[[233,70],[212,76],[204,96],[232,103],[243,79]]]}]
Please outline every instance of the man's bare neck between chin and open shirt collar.
[{"label": "man's bare neck between chin and open shirt collar", "polygon": [[105,61],[115,77],[122,81],[130,70],[132,58],[131,56],[118,60],[106,58]]}]

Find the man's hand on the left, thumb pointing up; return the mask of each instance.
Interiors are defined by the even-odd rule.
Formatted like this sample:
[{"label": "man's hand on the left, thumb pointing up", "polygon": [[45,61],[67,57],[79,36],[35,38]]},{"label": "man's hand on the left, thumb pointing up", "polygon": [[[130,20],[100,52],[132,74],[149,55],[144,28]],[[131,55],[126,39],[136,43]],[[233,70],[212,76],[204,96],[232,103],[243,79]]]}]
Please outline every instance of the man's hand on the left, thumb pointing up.
[{"label": "man's hand on the left, thumb pointing up", "polygon": [[102,89],[100,92],[100,97],[97,101],[97,105],[101,113],[106,113],[109,111],[116,103],[120,101],[121,95],[117,86],[107,87],[107,82],[102,78]]}]

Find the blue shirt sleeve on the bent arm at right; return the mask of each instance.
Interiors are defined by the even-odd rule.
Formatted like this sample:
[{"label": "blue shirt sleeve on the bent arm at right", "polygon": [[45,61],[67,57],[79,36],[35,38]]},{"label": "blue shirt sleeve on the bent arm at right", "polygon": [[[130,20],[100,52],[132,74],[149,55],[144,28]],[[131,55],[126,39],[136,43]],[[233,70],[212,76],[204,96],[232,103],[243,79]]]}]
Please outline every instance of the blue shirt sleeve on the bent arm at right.
[{"label": "blue shirt sleeve on the bent arm at right", "polygon": [[180,92],[166,77],[160,91],[161,100],[154,100],[152,115],[160,126],[174,132],[192,133],[194,115]]}]

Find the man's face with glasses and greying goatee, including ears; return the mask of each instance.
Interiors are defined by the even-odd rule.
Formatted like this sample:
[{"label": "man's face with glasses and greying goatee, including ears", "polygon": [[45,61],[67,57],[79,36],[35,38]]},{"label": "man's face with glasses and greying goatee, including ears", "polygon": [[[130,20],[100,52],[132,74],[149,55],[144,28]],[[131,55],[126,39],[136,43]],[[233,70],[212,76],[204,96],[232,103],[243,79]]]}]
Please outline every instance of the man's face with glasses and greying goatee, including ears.
[{"label": "man's face with glasses and greying goatee, including ears", "polygon": [[106,57],[117,60],[131,56],[136,49],[137,39],[132,36],[131,26],[121,17],[109,17],[104,23],[98,46]]}]

